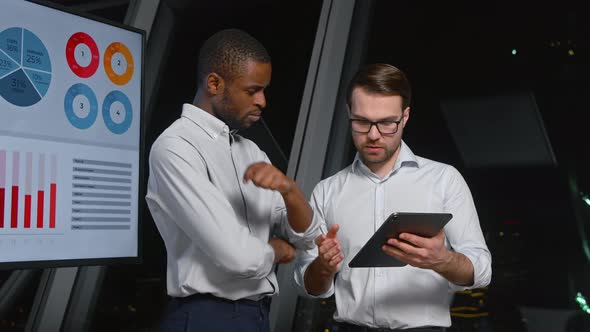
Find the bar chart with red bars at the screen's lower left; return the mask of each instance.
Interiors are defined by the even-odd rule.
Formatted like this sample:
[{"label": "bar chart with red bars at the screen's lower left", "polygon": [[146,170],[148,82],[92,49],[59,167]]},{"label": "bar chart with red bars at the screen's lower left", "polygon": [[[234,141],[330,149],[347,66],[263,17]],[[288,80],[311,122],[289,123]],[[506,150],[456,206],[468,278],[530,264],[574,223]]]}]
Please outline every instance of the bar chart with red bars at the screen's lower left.
[{"label": "bar chart with red bars at the screen's lower left", "polygon": [[0,150],[0,229],[55,229],[57,195],[55,154]]}]

